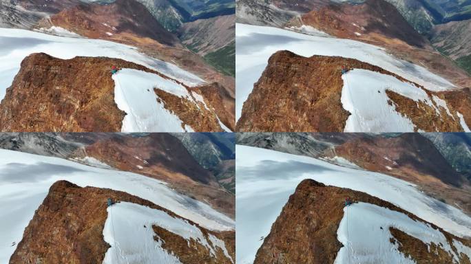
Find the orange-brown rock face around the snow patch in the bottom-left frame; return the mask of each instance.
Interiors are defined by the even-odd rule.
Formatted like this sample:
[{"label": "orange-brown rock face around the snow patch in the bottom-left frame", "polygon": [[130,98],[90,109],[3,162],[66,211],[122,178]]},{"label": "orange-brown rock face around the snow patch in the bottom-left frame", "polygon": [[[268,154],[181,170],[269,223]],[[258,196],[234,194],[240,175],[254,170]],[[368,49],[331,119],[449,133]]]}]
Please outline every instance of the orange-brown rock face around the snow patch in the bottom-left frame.
[{"label": "orange-brown rock face around the snow patch in the bottom-left frame", "polygon": [[[36,210],[10,263],[102,263],[109,248],[103,240],[103,228],[108,217],[108,198],[163,210],[172,217],[182,219],[165,208],[126,192],[93,187],[80,188],[67,181],[58,181],[51,186],[48,196]],[[224,241],[229,254],[234,258],[235,232],[211,232],[196,223],[184,220],[200,228],[205,237],[212,234]],[[200,263],[198,260],[201,259],[209,261],[207,263],[231,263],[222,250],[216,251],[215,258],[195,241],[192,241],[195,247],[189,248],[188,242],[180,236],[157,225],[152,228],[156,236],[165,235],[166,241],[172,241],[170,245],[164,243],[163,248],[173,251],[178,257],[181,254],[185,260],[182,263]],[[185,252],[177,251],[178,248],[185,249]]]}]

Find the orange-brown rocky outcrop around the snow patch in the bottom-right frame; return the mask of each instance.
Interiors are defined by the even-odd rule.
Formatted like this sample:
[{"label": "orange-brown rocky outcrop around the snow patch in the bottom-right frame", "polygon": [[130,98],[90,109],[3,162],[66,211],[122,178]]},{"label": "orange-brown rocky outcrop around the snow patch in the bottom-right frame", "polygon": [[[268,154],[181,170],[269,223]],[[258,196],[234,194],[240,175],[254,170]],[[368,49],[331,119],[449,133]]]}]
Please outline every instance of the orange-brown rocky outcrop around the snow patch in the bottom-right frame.
[{"label": "orange-brown rocky outcrop around the snow patch in the bottom-right frame", "polygon": [[[414,214],[364,192],[325,186],[312,179],[305,179],[297,186],[280,216],[273,223],[270,234],[266,236],[255,256],[254,263],[333,263],[337,252],[342,248],[342,243],[337,241],[337,229],[344,217],[346,197],[355,202],[372,203],[402,212],[415,221],[427,223]],[[432,223],[427,224],[440,230],[448,241],[455,239],[465,245],[471,245],[470,240],[458,238]],[[419,261],[418,263],[446,263],[451,257],[450,254],[446,254],[439,258],[432,250],[419,251],[419,248],[426,244],[418,242],[412,236],[400,236],[394,231],[392,234],[401,242],[399,251],[408,254],[408,250],[415,247],[414,252],[421,253],[420,256],[411,254],[413,259]],[[466,256],[461,256],[463,263],[467,263],[466,260]]]}]

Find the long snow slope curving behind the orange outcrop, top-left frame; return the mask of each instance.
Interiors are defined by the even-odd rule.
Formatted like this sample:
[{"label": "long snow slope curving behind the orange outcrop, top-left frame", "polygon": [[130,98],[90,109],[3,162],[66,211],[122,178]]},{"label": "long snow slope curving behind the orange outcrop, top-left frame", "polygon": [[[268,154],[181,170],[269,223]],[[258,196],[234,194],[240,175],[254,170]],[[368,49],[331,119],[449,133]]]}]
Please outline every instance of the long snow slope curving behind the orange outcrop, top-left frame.
[{"label": "long snow slope curving behind the orange outcrop, top-left frame", "polygon": [[198,76],[186,72],[176,65],[145,56],[134,47],[109,41],[52,36],[28,30],[0,28],[0,43],[2,43],[0,47],[0,61],[2,62],[0,64],[0,100],[3,99],[5,90],[10,87],[14,76],[19,72],[23,58],[37,52],[44,52],[62,59],[76,56],[121,58],[154,69],[185,85],[195,86],[204,83],[204,80]]}]

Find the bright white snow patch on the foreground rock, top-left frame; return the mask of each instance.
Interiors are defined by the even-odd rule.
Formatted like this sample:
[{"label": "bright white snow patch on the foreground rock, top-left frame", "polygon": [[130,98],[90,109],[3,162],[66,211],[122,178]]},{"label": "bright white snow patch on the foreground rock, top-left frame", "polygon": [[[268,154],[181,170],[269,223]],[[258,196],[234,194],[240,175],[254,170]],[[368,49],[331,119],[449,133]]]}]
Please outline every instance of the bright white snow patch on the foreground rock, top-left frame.
[{"label": "bright white snow patch on the foreground rock, top-left frame", "polygon": [[154,88],[175,96],[192,100],[188,90],[174,82],[137,69],[121,69],[112,76],[114,101],[127,115],[123,120],[121,132],[191,132],[190,126],[182,127],[178,115],[165,109],[158,100]]}]

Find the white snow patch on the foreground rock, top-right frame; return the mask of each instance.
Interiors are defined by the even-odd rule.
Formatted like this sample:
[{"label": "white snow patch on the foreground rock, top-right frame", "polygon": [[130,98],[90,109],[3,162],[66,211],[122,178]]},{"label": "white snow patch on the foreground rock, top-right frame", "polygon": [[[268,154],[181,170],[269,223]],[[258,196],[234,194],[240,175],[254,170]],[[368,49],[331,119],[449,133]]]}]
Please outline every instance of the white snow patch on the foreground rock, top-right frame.
[{"label": "white snow patch on the foreground rock, top-right frame", "polygon": [[342,106],[351,113],[345,132],[414,132],[415,124],[388,103],[386,90],[435,107],[426,91],[387,74],[352,69],[342,75],[342,80]]}]

